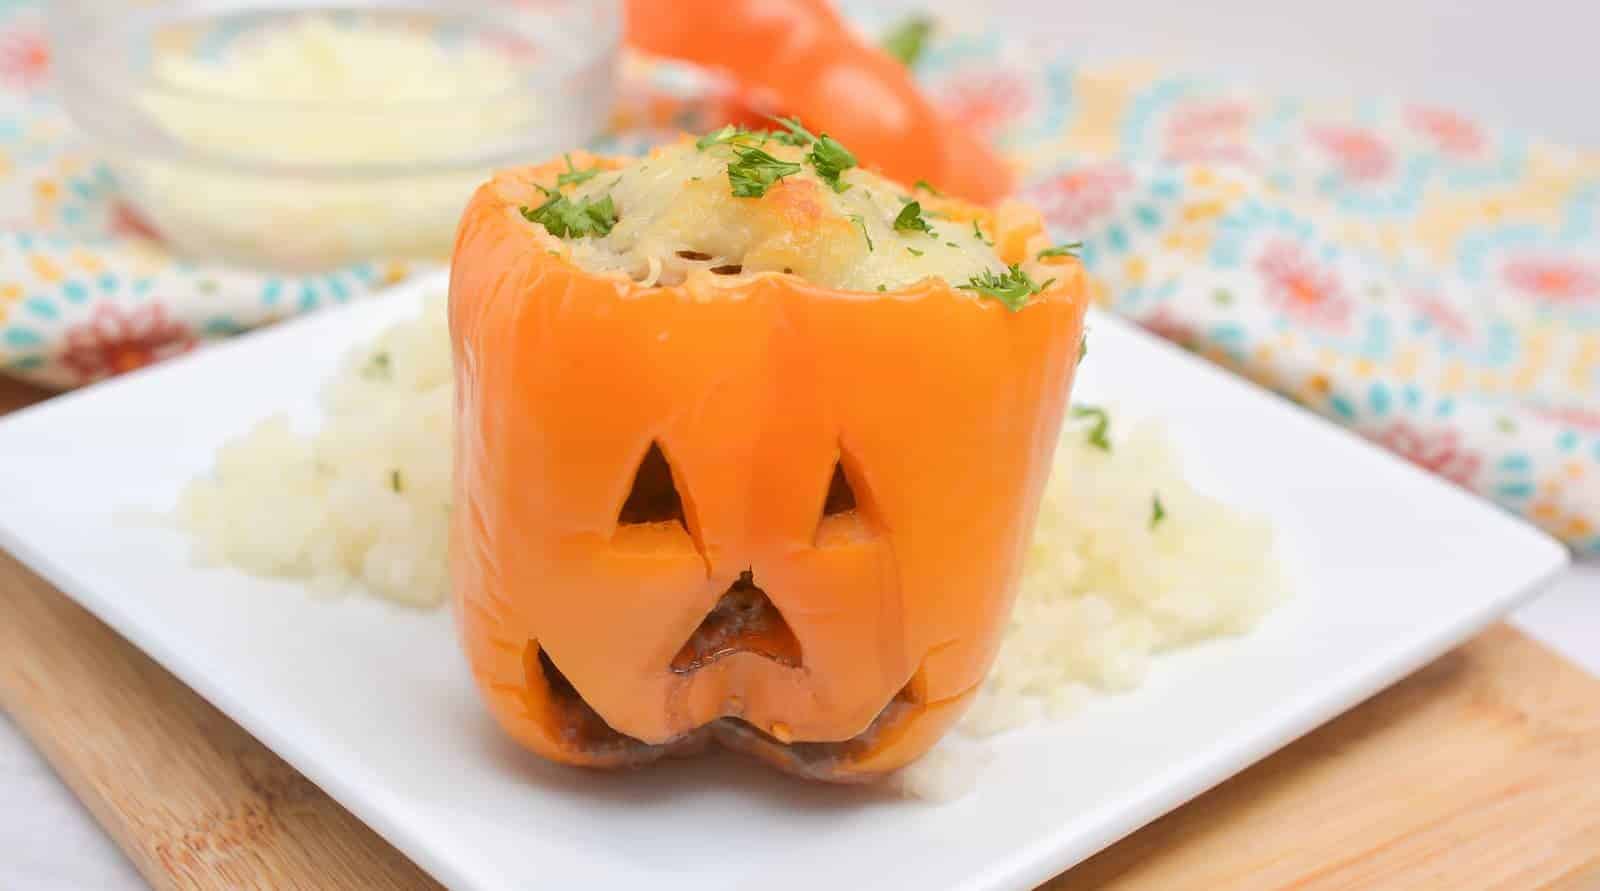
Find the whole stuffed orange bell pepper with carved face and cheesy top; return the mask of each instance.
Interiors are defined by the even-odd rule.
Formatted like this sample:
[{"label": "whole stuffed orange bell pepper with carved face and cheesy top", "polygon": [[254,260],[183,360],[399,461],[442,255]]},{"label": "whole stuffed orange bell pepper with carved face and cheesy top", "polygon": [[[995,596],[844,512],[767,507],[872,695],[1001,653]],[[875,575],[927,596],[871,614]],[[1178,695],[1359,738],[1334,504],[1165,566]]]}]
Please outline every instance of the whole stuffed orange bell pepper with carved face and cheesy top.
[{"label": "whole stuffed orange bell pepper with carved face and cheesy top", "polygon": [[1080,350],[1038,214],[790,125],[496,176],[461,224],[451,563],[560,761],[923,753],[995,654]]}]

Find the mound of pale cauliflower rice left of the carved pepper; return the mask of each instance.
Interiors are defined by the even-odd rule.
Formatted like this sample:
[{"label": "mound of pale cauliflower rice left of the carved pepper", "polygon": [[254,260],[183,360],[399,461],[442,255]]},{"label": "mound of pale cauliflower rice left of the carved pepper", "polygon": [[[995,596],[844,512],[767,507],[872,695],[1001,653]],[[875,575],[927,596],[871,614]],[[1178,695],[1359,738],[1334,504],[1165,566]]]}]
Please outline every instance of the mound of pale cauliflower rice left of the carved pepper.
[{"label": "mound of pale cauliflower rice left of the carved pepper", "polygon": [[218,449],[178,504],[202,563],[362,585],[410,606],[450,589],[450,334],[443,298],[354,350],[314,437],[274,416]]}]

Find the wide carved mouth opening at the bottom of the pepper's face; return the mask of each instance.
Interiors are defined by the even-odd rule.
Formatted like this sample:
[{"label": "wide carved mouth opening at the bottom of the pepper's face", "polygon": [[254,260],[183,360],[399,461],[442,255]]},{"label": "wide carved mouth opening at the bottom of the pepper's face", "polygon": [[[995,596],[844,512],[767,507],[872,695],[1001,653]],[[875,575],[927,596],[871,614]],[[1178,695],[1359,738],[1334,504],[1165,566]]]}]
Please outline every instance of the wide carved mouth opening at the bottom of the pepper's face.
[{"label": "wide carved mouth opening at the bottom of the pepper's face", "polygon": [[[790,773],[816,779],[848,779],[837,771],[842,761],[853,755],[872,749],[874,742],[886,731],[899,725],[915,709],[912,689],[917,681],[907,683],[872,723],[859,734],[838,742],[805,742],[779,739],[749,721],[736,717],[718,718],[696,728],[670,742],[650,744],[627,736],[608,725],[589,702],[584,701],[578,688],[536,643],[528,646],[530,669],[538,664],[542,683],[547,685],[550,704],[555,709],[555,728],[562,739],[574,750],[602,755],[613,765],[643,765],[662,757],[693,755],[704,750],[710,742],[718,742],[726,749],[739,752],[768,753],[781,752],[779,766]],[[531,685],[541,683],[531,677]]]}]

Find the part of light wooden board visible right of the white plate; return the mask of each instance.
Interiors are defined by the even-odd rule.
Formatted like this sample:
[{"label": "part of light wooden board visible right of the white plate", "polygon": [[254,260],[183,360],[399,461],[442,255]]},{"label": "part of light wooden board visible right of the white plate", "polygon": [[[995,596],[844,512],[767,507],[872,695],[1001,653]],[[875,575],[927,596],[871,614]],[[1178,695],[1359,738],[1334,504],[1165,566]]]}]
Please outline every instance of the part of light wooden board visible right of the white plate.
[{"label": "part of light wooden board visible right of the white plate", "polygon": [[1600,681],[1496,625],[1046,885],[1600,888]]}]

